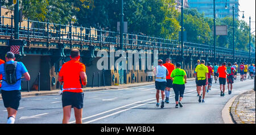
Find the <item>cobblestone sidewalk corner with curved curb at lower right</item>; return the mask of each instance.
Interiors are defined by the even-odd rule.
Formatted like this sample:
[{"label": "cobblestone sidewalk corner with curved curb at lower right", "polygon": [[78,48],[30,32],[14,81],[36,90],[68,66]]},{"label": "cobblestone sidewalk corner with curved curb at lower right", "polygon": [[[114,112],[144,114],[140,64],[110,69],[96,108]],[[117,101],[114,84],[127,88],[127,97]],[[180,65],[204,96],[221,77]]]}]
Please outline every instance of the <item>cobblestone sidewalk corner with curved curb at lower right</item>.
[{"label": "cobblestone sidewalk corner with curved curb at lower right", "polygon": [[238,95],[230,108],[230,114],[237,124],[255,124],[255,91]]}]

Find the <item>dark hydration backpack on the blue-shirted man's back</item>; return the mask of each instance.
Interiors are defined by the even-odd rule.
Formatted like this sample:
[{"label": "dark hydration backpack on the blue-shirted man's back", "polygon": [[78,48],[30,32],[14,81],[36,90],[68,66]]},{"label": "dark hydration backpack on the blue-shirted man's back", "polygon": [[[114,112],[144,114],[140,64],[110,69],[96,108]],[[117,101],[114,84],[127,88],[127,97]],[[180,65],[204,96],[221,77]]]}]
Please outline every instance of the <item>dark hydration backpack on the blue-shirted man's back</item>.
[{"label": "dark hydration backpack on the blue-shirted man's back", "polygon": [[8,85],[14,85],[17,81],[19,81],[19,79],[16,78],[16,67],[16,61],[12,64],[4,64],[6,80],[3,79],[3,81],[8,83]]}]

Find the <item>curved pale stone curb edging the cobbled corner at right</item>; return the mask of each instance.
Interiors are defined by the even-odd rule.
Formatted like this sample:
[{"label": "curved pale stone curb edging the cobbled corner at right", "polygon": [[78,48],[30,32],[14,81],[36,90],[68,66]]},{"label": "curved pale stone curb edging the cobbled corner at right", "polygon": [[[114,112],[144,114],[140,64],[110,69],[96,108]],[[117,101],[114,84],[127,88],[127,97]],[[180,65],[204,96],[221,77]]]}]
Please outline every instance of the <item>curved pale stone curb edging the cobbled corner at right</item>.
[{"label": "curved pale stone curb edging the cobbled corner at right", "polygon": [[237,113],[236,113],[236,108],[237,108],[237,104],[239,103],[240,97],[241,97],[243,94],[246,94],[246,93],[248,93],[248,92],[251,92],[251,90],[250,90],[250,91],[243,92],[242,94],[238,95],[238,96],[236,97],[236,99],[234,99],[234,102],[233,102],[232,106],[230,107],[230,115],[231,115],[232,120],[234,121],[235,124],[244,124],[244,123],[241,121],[240,117],[237,115]]}]

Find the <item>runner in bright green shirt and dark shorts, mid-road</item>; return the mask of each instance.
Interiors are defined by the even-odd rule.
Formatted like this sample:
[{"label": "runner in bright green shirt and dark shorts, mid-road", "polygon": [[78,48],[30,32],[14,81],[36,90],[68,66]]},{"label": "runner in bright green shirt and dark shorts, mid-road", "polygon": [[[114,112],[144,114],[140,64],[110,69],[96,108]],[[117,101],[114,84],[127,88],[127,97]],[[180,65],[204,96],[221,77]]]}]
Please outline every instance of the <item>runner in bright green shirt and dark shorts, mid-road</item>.
[{"label": "runner in bright green shirt and dark shorts, mid-road", "polygon": [[[185,83],[187,83],[187,74],[185,70],[180,69],[181,64],[176,64],[176,69],[172,71],[171,79],[173,80],[173,87],[175,93],[175,108],[178,108],[178,104],[180,107],[183,107],[181,100],[183,99],[183,94],[185,90]],[[179,102],[178,102],[179,101]]]}]

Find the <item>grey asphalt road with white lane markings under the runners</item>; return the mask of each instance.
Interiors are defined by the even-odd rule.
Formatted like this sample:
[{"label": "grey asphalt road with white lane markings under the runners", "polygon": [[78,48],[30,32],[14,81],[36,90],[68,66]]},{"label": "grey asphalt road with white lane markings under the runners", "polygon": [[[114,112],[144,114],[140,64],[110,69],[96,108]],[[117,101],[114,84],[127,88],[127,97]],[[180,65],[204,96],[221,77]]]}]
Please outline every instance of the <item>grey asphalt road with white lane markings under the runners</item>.
[{"label": "grey asphalt road with white lane markings under the runners", "polygon": [[[205,96],[205,103],[198,102],[195,81],[185,85],[183,108],[175,108],[174,92],[171,90],[170,103],[164,108],[156,107],[155,86],[139,86],[117,90],[85,92],[82,123],[90,124],[220,124],[221,111],[234,95],[251,90],[254,80],[235,81],[232,95],[220,96],[220,86],[213,82]],[[160,98],[161,100],[161,98]],[[19,124],[59,124],[63,109],[60,95],[32,96],[22,98],[15,123]],[[0,123],[6,123],[7,111],[0,100]],[[71,113],[70,123],[75,123]]]}]

